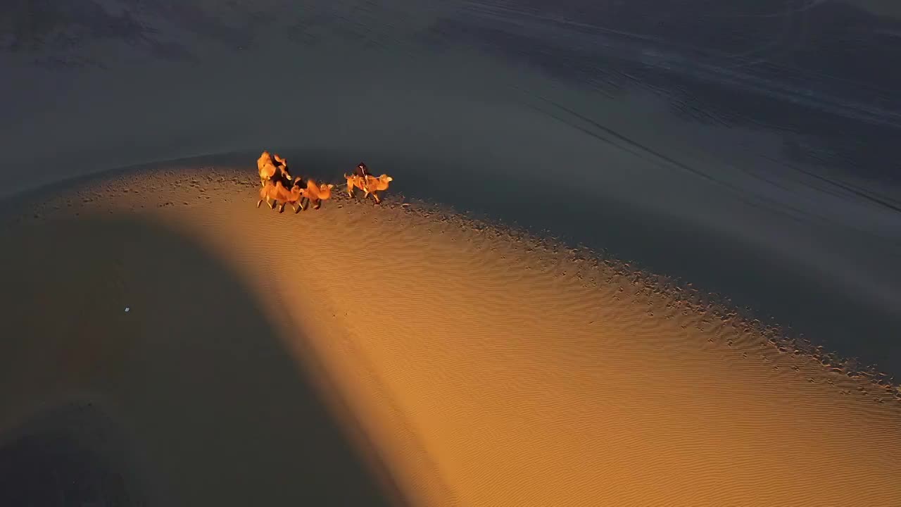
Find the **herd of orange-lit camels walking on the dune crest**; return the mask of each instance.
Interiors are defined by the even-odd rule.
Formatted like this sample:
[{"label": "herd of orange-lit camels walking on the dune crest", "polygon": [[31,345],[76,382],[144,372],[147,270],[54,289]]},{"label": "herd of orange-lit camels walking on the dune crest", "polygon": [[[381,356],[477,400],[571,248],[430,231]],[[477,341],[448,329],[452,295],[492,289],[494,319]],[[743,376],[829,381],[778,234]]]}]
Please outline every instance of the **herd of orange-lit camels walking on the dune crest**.
[{"label": "herd of orange-lit camels walking on the dune crest", "polygon": [[[292,179],[291,173],[288,172],[287,161],[279,157],[278,153],[263,152],[259,155],[257,170],[260,184],[257,207],[266,201],[268,207],[275,209],[278,206],[278,212],[282,213],[290,204],[297,213],[303,211],[305,205],[310,203],[314,209],[319,209],[323,200],[332,197],[334,185],[331,183],[316,183],[315,180],[304,180],[299,176]],[[344,179],[347,180],[347,193],[351,198],[353,189],[360,189],[363,191],[363,198],[371,195],[376,203],[381,202],[378,192],[387,190],[388,183],[394,180],[387,174],[372,176],[369,174],[369,168],[362,162],[351,174],[345,174]]]}]

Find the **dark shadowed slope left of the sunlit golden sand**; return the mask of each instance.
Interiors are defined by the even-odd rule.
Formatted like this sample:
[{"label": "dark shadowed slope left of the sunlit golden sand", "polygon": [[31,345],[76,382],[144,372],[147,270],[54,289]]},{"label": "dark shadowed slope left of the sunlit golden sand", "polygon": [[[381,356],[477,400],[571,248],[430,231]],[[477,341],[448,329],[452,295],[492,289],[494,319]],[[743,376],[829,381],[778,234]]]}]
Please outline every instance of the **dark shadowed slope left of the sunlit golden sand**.
[{"label": "dark shadowed slope left of the sunlit golden sand", "polygon": [[314,361],[190,239],[113,217],[0,237],[0,504],[399,502]]}]

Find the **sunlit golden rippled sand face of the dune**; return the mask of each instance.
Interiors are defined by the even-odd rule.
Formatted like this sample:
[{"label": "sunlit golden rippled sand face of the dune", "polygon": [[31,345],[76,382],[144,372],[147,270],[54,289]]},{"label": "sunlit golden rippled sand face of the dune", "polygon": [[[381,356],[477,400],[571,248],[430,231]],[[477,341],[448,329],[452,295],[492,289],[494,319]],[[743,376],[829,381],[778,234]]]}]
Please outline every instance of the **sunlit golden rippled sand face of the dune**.
[{"label": "sunlit golden rippled sand face of the dune", "polygon": [[93,183],[16,227],[129,214],[192,235],[322,365],[415,504],[901,505],[894,388],[773,330],[391,190],[280,215],[255,207],[252,166],[196,174]]}]

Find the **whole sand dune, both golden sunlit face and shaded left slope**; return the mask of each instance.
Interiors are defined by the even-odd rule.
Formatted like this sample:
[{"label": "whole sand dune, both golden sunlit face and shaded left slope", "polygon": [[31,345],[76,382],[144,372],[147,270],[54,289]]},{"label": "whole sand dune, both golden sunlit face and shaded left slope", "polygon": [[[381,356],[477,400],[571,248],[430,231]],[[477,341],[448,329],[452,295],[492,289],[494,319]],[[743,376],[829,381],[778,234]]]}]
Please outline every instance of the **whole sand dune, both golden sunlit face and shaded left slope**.
[{"label": "whole sand dune, both golden sunlit face and shaded left slope", "polygon": [[887,383],[623,263],[390,191],[278,215],[255,179],[8,211],[0,429],[94,400],[167,505],[901,503]]}]

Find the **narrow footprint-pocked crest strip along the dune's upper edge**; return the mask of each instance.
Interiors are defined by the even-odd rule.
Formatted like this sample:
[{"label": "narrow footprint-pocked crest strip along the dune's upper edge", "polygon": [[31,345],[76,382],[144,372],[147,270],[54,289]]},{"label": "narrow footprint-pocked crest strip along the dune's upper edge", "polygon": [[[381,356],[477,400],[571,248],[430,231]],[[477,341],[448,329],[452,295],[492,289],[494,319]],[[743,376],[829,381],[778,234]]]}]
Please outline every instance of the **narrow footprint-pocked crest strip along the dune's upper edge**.
[{"label": "narrow footprint-pocked crest strip along the dune's upper edge", "polygon": [[[17,204],[13,204],[12,213],[5,214],[4,221],[6,224],[22,223],[24,220],[47,216],[48,213],[53,216],[60,212],[77,217],[82,212],[80,207],[87,206],[86,210],[89,211],[92,205],[102,207],[110,214],[118,212],[123,207],[132,211],[147,211],[154,207],[184,206],[190,206],[193,209],[197,202],[203,203],[204,200],[213,200],[213,206],[217,206],[220,198],[225,203],[232,203],[238,199],[228,189],[222,188],[223,185],[236,191],[240,191],[242,188],[257,189],[252,185],[253,182],[248,180],[246,170],[234,168],[228,162],[224,162],[224,165],[220,164],[216,161],[217,159],[229,161],[233,159],[233,154],[220,153],[218,157],[198,156],[173,161],[152,161],[62,181],[57,185],[44,188],[65,189],[65,191],[59,192],[58,196],[54,195],[47,202],[36,202],[33,208],[31,205],[19,207]],[[203,160],[206,163],[195,167],[193,165],[195,160]],[[185,178],[183,171],[196,171],[196,174]],[[135,179],[144,180],[135,185]],[[337,182],[341,179],[333,180]],[[216,189],[215,196],[214,192],[208,193],[206,190],[212,186],[220,187]],[[46,195],[44,189],[32,190],[24,195],[27,196],[26,198],[30,198],[32,195]],[[104,189],[104,192],[98,192],[98,189]],[[187,192],[196,190],[196,195],[188,195],[187,198],[177,198],[176,196],[162,198],[163,196],[159,196],[160,193],[166,194],[167,189]],[[344,188],[336,189],[333,192],[332,201],[329,203],[330,206],[343,206],[345,201],[349,200],[345,191]],[[51,190],[52,192],[53,190]],[[122,196],[119,196],[120,193]],[[104,201],[104,197],[113,200]],[[127,197],[127,200],[115,202],[123,197]],[[21,199],[8,199],[6,204],[18,203],[21,202]],[[359,205],[358,201],[364,199],[358,196],[350,200],[355,205]],[[335,205],[334,202],[339,204]],[[852,379],[876,384],[901,400],[901,381],[879,371],[877,364],[863,364],[856,359],[843,358],[823,346],[813,344],[804,336],[793,333],[791,329],[781,327],[772,318],[759,318],[752,309],[733,306],[732,301],[722,294],[697,290],[690,281],[678,281],[660,273],[645,271],[635,263],[617,259],[605,251],[593,250],[584,245],[566,244],[552,235],[550,231],[542,231],[542,235],[536,235],[522,226],[492,220],[490,217],[471,217],[469,214],[458,212],[449,205],[436,205],[423,199],[406,198],[403,193],[397,193],[394,189],[388,192],[381,208],[395,211],[402,209],[406,213],[405,217],[420,221],[421,224],[432,225],[429,227],[430,231],[435,226],[431,222],[437,222],[440,231],[453,227],[463,229],[468,233],[478,233],[483,239],[522,244],[523,246],[514,249],[519,255],[519,260],[525,262],[525,259],[528,259],[528,263],[538,263],[543,266],[542,272],[551,269],[551,266],[570,265],[576,266],[575,276],[579,280],[587,281],[593,287],[596,287],[601,279],[608,283],[617,282],[621,285],[642,287],[643,289],[636,290],[635,295],[638,298],[643,297],[643,301],[649,305],[652,303],[648,298],[654,296],[658,300],[665,299],[664,304],[668,308],[678,305],[683,312],[695,312],[702,315],[703,318],[698,320],[696,326],[698,329],[733,327],[760,334],[765,336],[769,345],[774,346],[780,354],[808,356],[829,368],[833,373],[842,373]],[[364,207],[362,211],[358,210],[358,212],[364,215],[378,213],[370,210],[369,207]],[[471,243],[471,239],[468,241]],[[598,275],[597,272],[586,271],[598,270],[602,267],[611,270],[614,274],[605,272],[603,275]],[[533,266],[527,265],[525,269],[532,270]],[[612,277],[618,278],[614,281]],[[718,321],[718,324],[714,325],[714,321]]]}]

